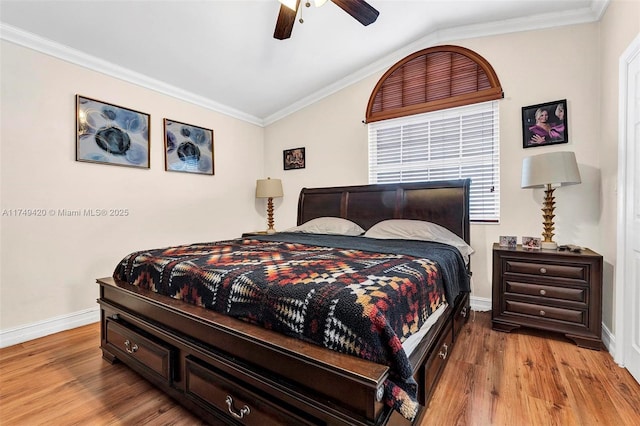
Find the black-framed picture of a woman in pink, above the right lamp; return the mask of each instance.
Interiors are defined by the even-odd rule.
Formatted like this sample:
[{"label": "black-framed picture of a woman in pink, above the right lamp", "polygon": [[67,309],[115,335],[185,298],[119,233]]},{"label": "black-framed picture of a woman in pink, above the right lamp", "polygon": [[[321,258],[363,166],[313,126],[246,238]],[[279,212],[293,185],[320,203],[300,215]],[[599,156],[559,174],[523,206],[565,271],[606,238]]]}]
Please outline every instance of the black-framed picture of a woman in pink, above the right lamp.
[{"label": "black-framed picture of a woman in pink, above the right lamp", "polygon": [[522,107],[522,147],[569,142],[567,100]]}]

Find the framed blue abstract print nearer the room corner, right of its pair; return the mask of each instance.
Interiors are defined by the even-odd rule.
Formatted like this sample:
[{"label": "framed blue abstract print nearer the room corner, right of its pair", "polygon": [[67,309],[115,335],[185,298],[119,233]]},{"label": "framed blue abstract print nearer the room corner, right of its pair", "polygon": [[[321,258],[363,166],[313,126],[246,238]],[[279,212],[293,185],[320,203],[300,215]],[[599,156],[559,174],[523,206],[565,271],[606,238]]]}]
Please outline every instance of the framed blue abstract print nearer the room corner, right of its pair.
[{"label": "framed blue abstract print nearer the room corner, right of its pair", "polygon": [[164,169],[213,175],[213,130],[165,118]]}]

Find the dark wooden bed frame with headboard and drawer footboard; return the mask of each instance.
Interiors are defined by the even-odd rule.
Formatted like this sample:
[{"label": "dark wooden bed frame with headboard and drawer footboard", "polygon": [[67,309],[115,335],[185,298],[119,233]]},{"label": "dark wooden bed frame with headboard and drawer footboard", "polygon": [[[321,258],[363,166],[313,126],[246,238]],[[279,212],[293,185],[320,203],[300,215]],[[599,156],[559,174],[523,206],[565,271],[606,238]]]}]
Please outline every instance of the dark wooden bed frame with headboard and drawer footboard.
[{"label": "dark wooden bed frame with headboard and drawer footboard", "polygon": [[[321,216],[364,229],[388,218],[420,219],[469,242],[470,181],[303,189],[298,224]],[[211,424],[408,424],[381,402],[389,368],[161,296],[98,279],[101,349]],[[467,320],[460,294],[409,360],[419,424],[447,354]]]}]

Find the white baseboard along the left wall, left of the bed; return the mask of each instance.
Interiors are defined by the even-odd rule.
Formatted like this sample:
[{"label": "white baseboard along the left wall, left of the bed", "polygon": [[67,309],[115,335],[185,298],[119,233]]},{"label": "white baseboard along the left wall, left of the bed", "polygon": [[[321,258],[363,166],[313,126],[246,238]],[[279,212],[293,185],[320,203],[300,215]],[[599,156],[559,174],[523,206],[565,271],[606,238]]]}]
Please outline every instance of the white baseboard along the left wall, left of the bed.
[{"label": "white baseboard along the left wall, left of the bed", "polygon": [[0,330],[0,348],[100,321],[100,307],[73,312],[9,330]]}]

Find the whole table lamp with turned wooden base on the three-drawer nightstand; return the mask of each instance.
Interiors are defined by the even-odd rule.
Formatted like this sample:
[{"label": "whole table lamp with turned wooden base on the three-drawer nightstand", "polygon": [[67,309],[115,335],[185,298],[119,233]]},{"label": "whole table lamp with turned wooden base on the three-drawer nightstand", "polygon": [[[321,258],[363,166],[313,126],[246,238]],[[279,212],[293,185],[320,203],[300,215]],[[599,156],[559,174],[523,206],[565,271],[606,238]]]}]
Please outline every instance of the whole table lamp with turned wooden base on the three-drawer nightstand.
[{"label": "whole table lamp with turned wooden base on the three-drawer nightstand", "polygon": [[559,151],[533,155],[522,160],[522,188],[545,188],[542,207],[541,248],[555,250],[553,241],[555,200],[553,191],[563,185],[580,183],[580,171],[573,152]]}]

